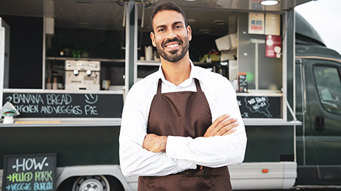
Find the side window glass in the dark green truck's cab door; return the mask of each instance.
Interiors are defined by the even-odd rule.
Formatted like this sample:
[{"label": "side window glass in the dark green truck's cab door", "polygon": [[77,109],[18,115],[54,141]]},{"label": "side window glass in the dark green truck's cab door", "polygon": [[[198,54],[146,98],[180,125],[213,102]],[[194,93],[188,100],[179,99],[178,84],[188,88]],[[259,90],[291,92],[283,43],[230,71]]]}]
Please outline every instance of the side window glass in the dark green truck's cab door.
[{"label": "side window glass in the dark green truck's cab door", "polygon": [[337,68],[314,66],[313,69],[323,108],[328,112],[341,115],[341,80]]}]

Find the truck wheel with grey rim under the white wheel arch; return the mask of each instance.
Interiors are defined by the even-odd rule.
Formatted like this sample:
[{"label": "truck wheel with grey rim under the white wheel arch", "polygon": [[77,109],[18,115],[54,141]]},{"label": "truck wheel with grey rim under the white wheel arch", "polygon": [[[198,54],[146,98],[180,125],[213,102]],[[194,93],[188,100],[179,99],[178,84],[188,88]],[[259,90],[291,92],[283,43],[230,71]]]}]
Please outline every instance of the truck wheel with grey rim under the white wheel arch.
[{"label": "truck wheel with grey rim under the white wheel arch", "polygon": [[109,191],[107,178],[102,175],[81,176],[73,184],[72,191]]}]

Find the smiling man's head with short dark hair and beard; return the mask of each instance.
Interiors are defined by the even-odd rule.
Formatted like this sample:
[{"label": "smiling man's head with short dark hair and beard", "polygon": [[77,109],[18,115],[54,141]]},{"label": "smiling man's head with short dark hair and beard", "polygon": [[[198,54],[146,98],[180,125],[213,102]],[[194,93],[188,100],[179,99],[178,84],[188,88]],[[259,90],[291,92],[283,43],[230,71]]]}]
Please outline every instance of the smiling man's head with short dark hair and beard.
[{"label": "smiling man's head with short dark hair and beard", "polygon": [[192,39],[190,26],[176,11],[161,11],[153,18],[151,41],[158,53],[168,62],[178,62],[188,54]]}]

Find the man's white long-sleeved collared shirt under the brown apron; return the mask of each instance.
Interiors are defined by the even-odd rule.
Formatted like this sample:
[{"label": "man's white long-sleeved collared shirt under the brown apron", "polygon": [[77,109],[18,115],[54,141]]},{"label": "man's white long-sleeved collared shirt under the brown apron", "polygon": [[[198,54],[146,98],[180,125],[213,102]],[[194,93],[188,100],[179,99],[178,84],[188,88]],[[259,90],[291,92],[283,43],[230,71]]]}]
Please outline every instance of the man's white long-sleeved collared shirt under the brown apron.
[{"label": "man's white long-sleeved collared shirt under the brown apron", "polygon": [[[195,79],[200,81],[202,91],[212,113],[212,122],[228,114],[239,122],[236,132],[215,137],[168,136],[166,152],[153,153],[142,148],[147,132],[149,109],[162,80],[161,93],[197,91]],[[208,127],[207,127],[208,128]],[[195,169],[197,165],[221,167],[244,160],[247,136],[232,84],[222,75],[213,73],[191,62],[190,78],[178,86],[167,81],[160,69],[146,76],[131,87],[122,112],[119,135],[119,160],[126,176],[161,176]]]}]

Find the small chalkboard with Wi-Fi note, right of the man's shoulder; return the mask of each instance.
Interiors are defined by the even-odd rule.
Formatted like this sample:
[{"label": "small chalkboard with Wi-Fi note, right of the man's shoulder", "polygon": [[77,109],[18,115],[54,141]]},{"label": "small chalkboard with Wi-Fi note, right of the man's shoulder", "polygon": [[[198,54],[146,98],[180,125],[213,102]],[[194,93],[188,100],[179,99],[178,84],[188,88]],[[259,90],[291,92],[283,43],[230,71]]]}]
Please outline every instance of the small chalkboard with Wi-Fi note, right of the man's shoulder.
[{"label": "small chalkboard with Wi-Fi note, right of the man's shoulder", "polygon": [[243,118],[281,118],[281,96],[237,96]]}]

